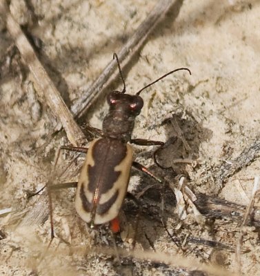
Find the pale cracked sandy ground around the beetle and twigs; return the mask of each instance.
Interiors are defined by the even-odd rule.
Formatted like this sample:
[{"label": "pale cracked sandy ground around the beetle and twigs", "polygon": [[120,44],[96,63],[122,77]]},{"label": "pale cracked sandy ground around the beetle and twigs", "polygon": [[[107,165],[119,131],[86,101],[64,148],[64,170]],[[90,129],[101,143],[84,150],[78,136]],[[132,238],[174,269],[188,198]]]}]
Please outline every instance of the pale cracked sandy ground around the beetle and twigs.
[{"label": "pale cracked sandy ground around the beetle and twigs", "polygon": [[[30,6],[30,11],[26,8]],[[83,88],[97,78],[101,70],[136,30],[156,1],[11,1],[11,11],[21,24],[40,41],[39,56],[68,106],[81,97]],[[177,72],[142,92],[145,102],[137,117],[133,137],[168,141],[175,135],[169,119],[174,117],[189,149],[179,144],[164,150],[159,161],[172,170],[154,166],[154,148],[136,148],[141,164],[177,185],[174,177],[184,173],[194,193],[214,195],[238,204],[250,200],[254,177],[259,175],[259,159],[229,177],[223,186],[212,180],[212,172],[224,162],[232,161],[244,148],[257,141],[260,112],[260,5],[259,1],[184,1],[177,20],[171,14],[157,28],[141,49],[139,58],[125,72],[127,92],[134,93],[150,81],[179,67],[188,67],[192,76]],[[8,48],[12,40],[0,21],[0,209],[12,213],[0,217],[1,275],[203,275],[137,259],[123,259],[119,268],[113,257],[95,253],[97,246],[111,246],[106,226],[90,230],[74,210],[74,190],[59,190],[54,198],[55,235],[52,246],[39,263],[50,241],[50,220],[41,224],[19,225],[24,215],[43,195],[27,199],[29,192],[41,188],[50,177],[54,155],[68,141],[64,133],[50,135],[57,122],[50,110],[35,96],[32,76],[18,52],[13,53],[8,70]],[[37,85],[34,86],[37,89]],[[118,88],[120,89],[120,88]],[[108,107],[100,97],[86,118],[101,128]],[[67,166],[70,155],[59,164]],[[194,164],[173,165],[174,159],[189,158]],[[82,158],[74,167],[79,167]],[[72,166],[72,167],[73,167]],[[70,171],[71,170],[71,171]],[[57,179],[77,181],[71,168]],[[66,180],[64,180],[66,179]],[[133,171],[129,190],[137,194],[148,184],[148,177]],[[188,208],[187,218],[180,221],[166,190],[164,220],[177,242],[174,244],[160,223],[159,186],[155,185],[143,199],[143,215],[137,231],[137,248],[179,253],[233,270],[237,267],[234,248],[239,224],[228,220],[198,223]],[[170,203],[169,203],[170,202]],[[171,205],[172,204],[172,205]],[[187,206],[188,207],[188,206]],[[124,207],[129,223],[134,224],[137,208],[132,201]],[[129,211],[132,210],[132,211]],[[151,214],[149,215],[148,210]],[[152,213],[154,212],[154,213]],[[203,238],[226,244],[229,249],[185,242],[188,237]],[[129,240],[120,242],[130,248]],[[74,250],[80,246],[86,248]],[[55,250],[56,248],[56,250]],[[260,275],[259,229],[248,227],[242,248],[243,275]],[[189,274],[190,273],[190,274]]]}]

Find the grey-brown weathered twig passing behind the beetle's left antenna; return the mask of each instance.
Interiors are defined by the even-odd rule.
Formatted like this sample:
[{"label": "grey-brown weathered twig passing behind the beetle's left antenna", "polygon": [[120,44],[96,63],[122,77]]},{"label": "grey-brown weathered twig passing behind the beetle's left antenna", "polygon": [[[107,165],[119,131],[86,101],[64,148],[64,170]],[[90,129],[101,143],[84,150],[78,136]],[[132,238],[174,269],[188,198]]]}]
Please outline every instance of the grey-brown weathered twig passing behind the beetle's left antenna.
[{"label": "grey-brown weathered twig passing behind the beetle's left antenna", "polygon": [[[154,30],[154,28],[165,18],[166,13],[171,8],[174,9],[174,14],[171,14],[172,21],[177,18],[182,3],[183,0],[161,0],[157,3],[150,14],[148,14],[146,20],[141,23],[136,32],[134,32],[132,37],[128,39],[126,44],[119,51],[118,57],[122,68],[137,54],[152,30]],[[109,86],[115,76],[117,76],[117,72],[113,74],[114,70],[117,68],[116,66],[116,61],[110,61],[103,72],[101,72],[101,75],[89,88],[83,87],[83,90],[86,90],[86,92],[84,92],[83,96],[71,107],[74,116],[81,117],[86,110],[90,108],[93,101],[99,97],[101,92]]]}]

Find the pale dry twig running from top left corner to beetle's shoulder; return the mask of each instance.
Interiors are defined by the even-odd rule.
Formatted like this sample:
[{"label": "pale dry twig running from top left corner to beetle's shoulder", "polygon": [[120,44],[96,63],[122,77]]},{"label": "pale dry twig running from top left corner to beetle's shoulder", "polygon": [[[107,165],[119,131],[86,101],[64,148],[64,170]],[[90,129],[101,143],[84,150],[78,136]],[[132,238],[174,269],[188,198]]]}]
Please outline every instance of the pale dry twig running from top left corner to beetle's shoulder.
[{"label": "pale dry twig running from top left corner to beetle's shoulder", "polygon": [[0,14],[6,19],[6,27],[8,32],[10,32],[12,38],[14,39],[23,60],[26,62],[30,72],[37,81],[41,91],[41,95],[44,95],[48,106],[54,113],[54,116],[59,118],[61,124],[66,131],[68,139],[74,146],[79,146],[82,144],[83,139],[86,139],[85,135],[81,131],[81,128],[74,121],[70,110],[64,103],[59,91],[54,86],[54,83],[48,76],[46,70],[41,65],[34,49],[30,45],[25,34],[21,30],[19,24],[13,19],[10,14],[10,10],[6,5],[6,0],[0,0]]}]

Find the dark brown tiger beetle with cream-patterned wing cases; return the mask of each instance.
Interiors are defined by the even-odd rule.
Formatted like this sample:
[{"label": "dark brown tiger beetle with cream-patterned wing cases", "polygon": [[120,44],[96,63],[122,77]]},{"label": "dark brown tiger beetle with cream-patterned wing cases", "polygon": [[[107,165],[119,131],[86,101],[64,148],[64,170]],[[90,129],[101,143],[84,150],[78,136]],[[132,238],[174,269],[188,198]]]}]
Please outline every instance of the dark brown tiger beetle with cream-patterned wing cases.
[{"label": "dark brown tiger beetle with cream-patterned wing cases", "polygon": [[188,68],[172,70],[141,88],[135,95],[129,95],[126,94],[126,84],[122,76],[119,59],[116,54],[113,58],[117,59],[117,66],[123,81],[123,90],[112,91],[108,94],[107,101],[110,108],[103,119],[103,130],[87,127],[90,132],[94,130],[101,137],[94,139],[88,148],[62,146],[60,150],[87,153],[79,176],[75,199],[79,217],[90,224],[90,227],[110,222],[112,231],[118,232],[120,228],[117,215],[126,196],[131,166],[161,182],[144,166],[132,161],[133,150],[130,144],[139,146],[163,146],[164,144],[161,141],[131,139],[134,119],[143,107],[143,99],[139,95],[142,90],[173,72],[188,70],[190,75],[191,72]]}]

